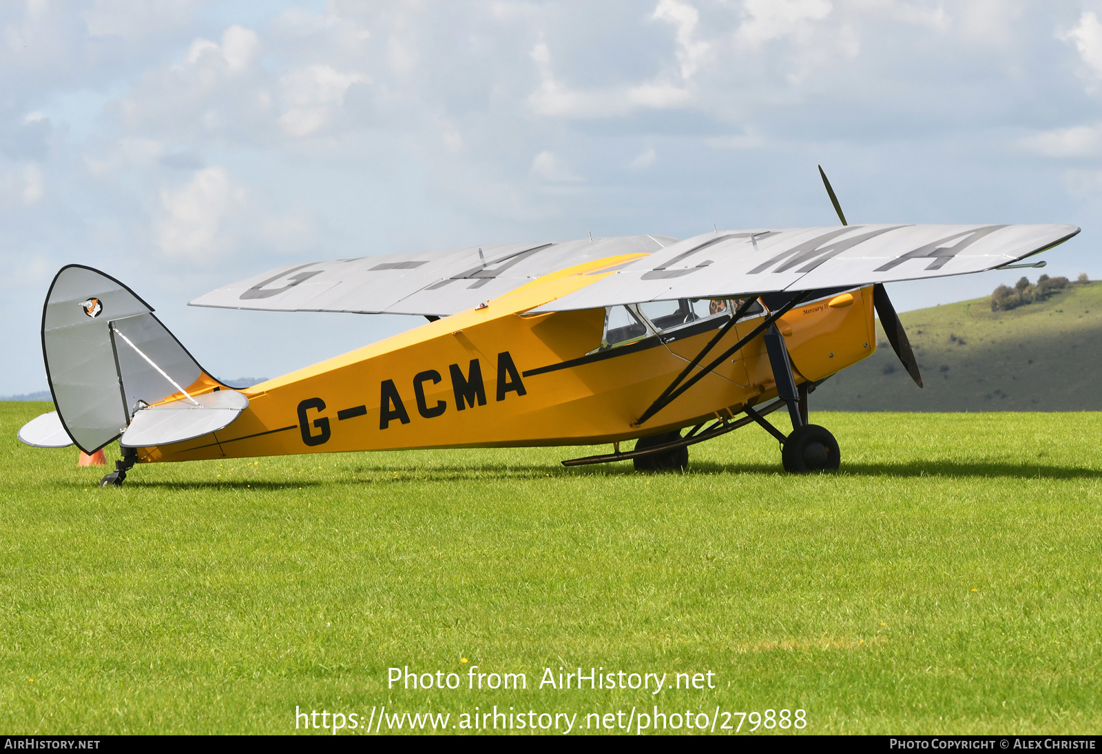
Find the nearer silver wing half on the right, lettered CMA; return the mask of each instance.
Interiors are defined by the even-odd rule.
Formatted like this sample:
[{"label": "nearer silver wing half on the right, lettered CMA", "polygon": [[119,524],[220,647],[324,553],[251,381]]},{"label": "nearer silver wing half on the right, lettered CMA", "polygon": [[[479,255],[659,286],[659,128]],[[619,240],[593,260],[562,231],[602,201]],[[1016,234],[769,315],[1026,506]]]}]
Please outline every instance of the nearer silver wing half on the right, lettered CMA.
[{"label": "nearer silver wing half on the right, lettered CMA", "polygon": [[1073,225],[849,225],[688,238],[532,312],[851,288],[995,269],[1061,244]]}]

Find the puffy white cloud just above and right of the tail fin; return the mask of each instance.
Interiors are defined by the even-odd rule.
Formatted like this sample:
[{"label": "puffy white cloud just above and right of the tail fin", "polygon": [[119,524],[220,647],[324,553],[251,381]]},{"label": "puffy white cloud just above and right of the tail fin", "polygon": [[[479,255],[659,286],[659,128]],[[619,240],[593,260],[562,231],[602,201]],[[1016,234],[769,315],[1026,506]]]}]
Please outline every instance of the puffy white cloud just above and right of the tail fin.
[{"label": "puffy white cloud just above and right of the tail fin", "polygon": [[162,214],[153,227],[158,246],[169,257],[208,261],[225,251],[226,220],[245,204],[245,192],[223,168],[196,171],[175,191],[161,192]]}]

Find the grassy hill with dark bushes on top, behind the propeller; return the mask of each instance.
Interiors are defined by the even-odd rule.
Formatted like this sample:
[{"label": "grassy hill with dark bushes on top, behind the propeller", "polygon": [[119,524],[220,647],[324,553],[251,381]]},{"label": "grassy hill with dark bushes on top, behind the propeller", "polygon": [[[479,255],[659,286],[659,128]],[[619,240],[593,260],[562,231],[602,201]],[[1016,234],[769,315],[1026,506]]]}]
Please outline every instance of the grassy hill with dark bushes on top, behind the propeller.
[{"label": "grassy hill with dark bushes on top, behind the propeller", "polygon": [[875,354],[812,396],[822,411],[1102,410],[1102,283],[1073,283],[1008,312],[988,298],[900,314],[926,384],[877,324]]}]

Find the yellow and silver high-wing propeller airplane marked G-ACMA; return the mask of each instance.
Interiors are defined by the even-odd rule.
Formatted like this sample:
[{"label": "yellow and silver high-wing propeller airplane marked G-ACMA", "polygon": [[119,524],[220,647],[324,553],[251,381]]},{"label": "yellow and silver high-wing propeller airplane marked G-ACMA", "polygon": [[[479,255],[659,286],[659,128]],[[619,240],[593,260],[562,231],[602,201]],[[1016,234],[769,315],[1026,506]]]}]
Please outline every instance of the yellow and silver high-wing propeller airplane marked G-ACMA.
[{"label": "yellow and silver high-wing propeller airplane marked G-ACMA", "polygon": [[[429,448],[612,443],[568,466],[684,470],[689,446],[756,423],[786,472],[838,470],[809,395],[876,351],[918,387],[885,283],[1017,267],[1072,225],[841,225],[484,245],[296,263],[194,306],[392,313],[428,322],[251,387],[214,378],[117,279],[62,268],[42,351],[55,411],[29,445],[138,463]],[[791,431],[766,416],[787,409]],[[635,440],[630,450],[625,441]]]}]

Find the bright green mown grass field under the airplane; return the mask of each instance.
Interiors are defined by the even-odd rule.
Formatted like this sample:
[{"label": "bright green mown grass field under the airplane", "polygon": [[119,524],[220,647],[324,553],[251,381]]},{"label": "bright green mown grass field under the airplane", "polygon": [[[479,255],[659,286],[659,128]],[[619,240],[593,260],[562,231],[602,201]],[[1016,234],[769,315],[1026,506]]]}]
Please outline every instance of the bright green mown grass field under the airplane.
[{"label": "bright green mown grass field under the airplane", "polygon": [[[750,427],[684,475],[424,451],[139,466],[99,489],[75,450],[14,440],[46,408],[0,403],[6,732],[284,733],[296,704],[1102,728],[1096,413],[813,414],[836,475],[780,474]],[[529,690],[387,689],[391,666],[461,658]],[[533,688],[560,666],[716,688]]]}]

